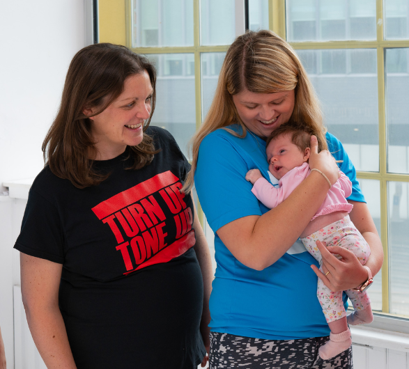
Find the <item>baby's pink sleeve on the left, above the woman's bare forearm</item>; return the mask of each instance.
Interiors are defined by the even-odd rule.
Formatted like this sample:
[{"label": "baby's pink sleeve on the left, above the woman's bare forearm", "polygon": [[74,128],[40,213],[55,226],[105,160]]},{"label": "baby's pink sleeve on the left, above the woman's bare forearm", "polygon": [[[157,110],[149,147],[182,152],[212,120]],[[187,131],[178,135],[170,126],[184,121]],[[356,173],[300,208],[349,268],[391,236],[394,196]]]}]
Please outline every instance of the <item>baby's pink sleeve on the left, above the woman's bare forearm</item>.
[{"label": "baby's pink sleeve on the left, above the woman's bare forearm", "polygon": [[252,193],[256,196],[256,198],[258,198],[259,201],[261,201],[261,203],[272,209],[288,198],[291,192],[293,192],[295,187],[300,185],[303,179],[304,178],[298,175],[298,171],[296,169],[286,173],[286,175],[281,178],[279,183],[281,187],[279,188],[274,187],[265,178],[259,178],[254,183]]}]

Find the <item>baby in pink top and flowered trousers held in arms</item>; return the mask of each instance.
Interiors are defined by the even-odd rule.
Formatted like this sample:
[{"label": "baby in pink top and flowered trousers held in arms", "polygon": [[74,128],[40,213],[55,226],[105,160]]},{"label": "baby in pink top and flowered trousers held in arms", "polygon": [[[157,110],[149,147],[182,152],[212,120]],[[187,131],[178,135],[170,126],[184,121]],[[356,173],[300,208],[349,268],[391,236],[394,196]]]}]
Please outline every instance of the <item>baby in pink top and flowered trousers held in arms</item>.
[{"label": "baby in pink top and flowered trousers held in arms", "polygon": [[[272,208],[282,203],[295,187],[300,185],[300,182],[311,173],[308,165],[311,153],[309,148],[311,134],[314,132],[309,132],[307,127],[289,123],[281,125],[272,132],[267,141],[266,153],[269,171],[279,180],[277,188],[265,180],[258,169],[247,172],[246,180],[254,185],[253,194],[266,207]],[[321,171],[318,172],[321,173]],[[341,246],[353,251],[361,264],[364,265],[371,250],[348,215],[353,205],[346,201],[346,197],[352,193],[352,183],[341,171],[339,171],[339,179],[334,185],[331,186],[330,181],[326,177],[325,179],[330,185],[330,191],[328,191],[318,212],[302,232],[301,241],[320,265],[322,257],[316,246],[317,240],[325,242],[327,246]],[[320,269],[322,272],[322,266]],[[366,269],[368,269],[368,279],[371,281],[371,271],[369,267]],[[369,283],[364,287],[368,285]],[[331,330],[330,340],[319,349],[322,359],[330,359],[347,350],[352,344],[347,321],[353,325],[372,322],[371,301],[363,290],[364,288],[357,288],[357,290],[346,291],[354,307],[354,313],[347,318],[342,301],[342,292],[332,292],[318,278],[317,297]]]}]

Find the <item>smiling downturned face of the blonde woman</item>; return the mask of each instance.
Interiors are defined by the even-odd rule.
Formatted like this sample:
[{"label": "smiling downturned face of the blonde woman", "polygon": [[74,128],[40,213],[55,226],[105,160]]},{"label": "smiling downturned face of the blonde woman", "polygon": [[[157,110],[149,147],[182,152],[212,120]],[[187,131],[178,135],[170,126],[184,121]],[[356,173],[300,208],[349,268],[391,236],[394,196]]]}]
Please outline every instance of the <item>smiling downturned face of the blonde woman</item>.
[{"label": "smiling downturned face of the blonde woman", "polygon": [[233,95],[242,122],[261,139],[267,139],[279,125],[288,122],[294,110],[295,93],[252,93],[242,91]]}]

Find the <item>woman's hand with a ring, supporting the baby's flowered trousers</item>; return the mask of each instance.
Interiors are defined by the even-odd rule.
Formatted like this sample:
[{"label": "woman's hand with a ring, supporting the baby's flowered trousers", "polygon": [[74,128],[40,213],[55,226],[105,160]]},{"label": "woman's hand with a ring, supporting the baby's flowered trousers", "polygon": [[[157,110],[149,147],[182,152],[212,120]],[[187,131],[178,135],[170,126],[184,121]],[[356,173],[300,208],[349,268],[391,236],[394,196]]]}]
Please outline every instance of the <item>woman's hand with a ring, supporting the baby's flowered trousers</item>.
[{"label": "woman's hand with a ring, supporting the baby's flowered trousers", "polygon": [[[368,272],[352,251],[340,246],[326,247],[321,241],[317,241],[316,245],[323,256],[323,272],[315,265],[311,268],[332,292],[350,290],[366,281]],[[339,260],[334,255],[342,258]]]}]

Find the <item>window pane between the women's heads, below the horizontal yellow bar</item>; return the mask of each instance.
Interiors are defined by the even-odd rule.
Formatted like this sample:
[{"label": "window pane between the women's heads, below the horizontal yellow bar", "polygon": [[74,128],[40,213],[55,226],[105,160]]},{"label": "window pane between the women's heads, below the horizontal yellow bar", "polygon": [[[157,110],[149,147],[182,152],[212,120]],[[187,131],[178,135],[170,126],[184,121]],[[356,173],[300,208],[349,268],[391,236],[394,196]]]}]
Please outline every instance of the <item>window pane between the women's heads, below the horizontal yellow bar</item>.
[{"label": "window pane between the women's heads, below the horizontal yellow bar", "polygon": [[215,96],[217,80],[225,52],[206,52],[201,54],[201,109],[202,118],[206,116]]}]

